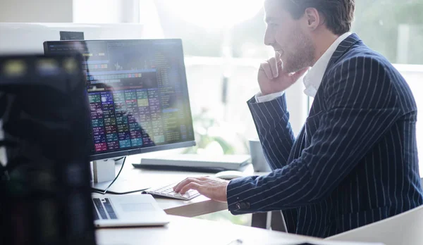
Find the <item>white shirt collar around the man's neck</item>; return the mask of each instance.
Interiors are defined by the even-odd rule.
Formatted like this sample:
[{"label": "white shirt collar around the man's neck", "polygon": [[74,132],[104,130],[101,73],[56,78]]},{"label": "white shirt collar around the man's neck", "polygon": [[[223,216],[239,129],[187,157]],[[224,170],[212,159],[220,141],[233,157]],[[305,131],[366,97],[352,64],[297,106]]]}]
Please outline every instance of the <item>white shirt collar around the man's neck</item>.
[{"label": "white shirt collar around the man's neck", "polygon": [[338,39],[333,42],[333,44],[329,47],[326,52],[319,58],[319,60],[313,65],[313,67],[309,70],[307,75],[302,79],[302,82],[305,85],[304,93],[308,96],[314,97],[316,96],[317,89],[319,89],[321,80],[323,79],[324,73],[326,72],[326,68],[335,53],[336,49],[338,48],[339,44],[343,42],[347,37],[349,37],[351,32],[347,32]]}]

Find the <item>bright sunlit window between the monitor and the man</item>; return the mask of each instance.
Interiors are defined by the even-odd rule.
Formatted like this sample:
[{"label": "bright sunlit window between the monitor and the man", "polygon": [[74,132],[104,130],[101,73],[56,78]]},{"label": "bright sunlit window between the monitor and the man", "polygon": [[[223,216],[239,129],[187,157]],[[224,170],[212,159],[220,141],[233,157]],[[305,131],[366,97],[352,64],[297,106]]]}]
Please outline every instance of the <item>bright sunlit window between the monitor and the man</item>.
[{"label": "bright sunlit window between the monitor and the man", "polygon": [[[264,1],[248,1],[248,6],[245,6],[247,1],[241,2],[244,8],[232,9],[247,11],[236,15],[243,21],[234,20],[231,15],[228,21],[233,21],[234,25],[223,25],[225,21],[219,20],[221,27],[216,27],[216,23],[207,26],[206,20],[197,23],[186,16],[181,17],[166,0],[154,1],[164,37],[183,39],[190,101],[198,131],[196,138],[210,142],[207,146],[200,142],[204,149],[196,149],[198,153],[247,153],[247,140],[257,137],[246,102],[259,92],[259,64],[274,56],[274,51],[263,44]],[[204,7],[196,11],[212,10]],[[209,15],[213,18],[210,21],[217,15],[224,19],[222,15],[226,12],[219,13],[216,9],[216,13]],[[291,120],[295,121],[294,131],[300,132],[307,117],[307,100],[297,95],[302,93],[301,84],[291,90],[294,89],[300,92],[288,94],[288,106],[292,111],[301,111],[291,114]]]}]

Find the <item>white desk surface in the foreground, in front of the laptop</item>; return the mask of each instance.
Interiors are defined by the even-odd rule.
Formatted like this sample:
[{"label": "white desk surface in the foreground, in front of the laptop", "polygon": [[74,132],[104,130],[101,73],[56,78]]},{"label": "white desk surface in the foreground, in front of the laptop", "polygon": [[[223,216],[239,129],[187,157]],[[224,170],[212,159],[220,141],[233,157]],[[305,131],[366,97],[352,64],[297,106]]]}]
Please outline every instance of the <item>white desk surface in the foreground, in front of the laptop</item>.
[{"label": "white desk surface in the foreground, in front of the laptop", "polygon": [[[222,222],[170,216],[165,227],[139,227],[99,229],[96,232],[98,245],[226,245],[235,239],[242,239],[243,245],[292,244],[305,237],[283,232],[231,225]],[[307,237],[310,240],[310,238]],[[318,241],[319,239],[311,239]],[[235,245],[235,244],[234,244]]]}]

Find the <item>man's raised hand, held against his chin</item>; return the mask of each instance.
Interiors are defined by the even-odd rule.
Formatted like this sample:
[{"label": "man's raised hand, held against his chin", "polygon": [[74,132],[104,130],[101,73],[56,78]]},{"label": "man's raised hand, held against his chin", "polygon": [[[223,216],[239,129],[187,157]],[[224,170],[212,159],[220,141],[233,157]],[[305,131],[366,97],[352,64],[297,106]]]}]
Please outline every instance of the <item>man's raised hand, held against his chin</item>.
[{"label": "man's raised hand, held against his chin", "polygon": [[296,73],[286,73],[282,69],[282,62],[280,59],[271,58],[260,65],[259,68],[259,86],[262,95],[282,92],[290,85],[294,84],[309,68],[304,68]]}]

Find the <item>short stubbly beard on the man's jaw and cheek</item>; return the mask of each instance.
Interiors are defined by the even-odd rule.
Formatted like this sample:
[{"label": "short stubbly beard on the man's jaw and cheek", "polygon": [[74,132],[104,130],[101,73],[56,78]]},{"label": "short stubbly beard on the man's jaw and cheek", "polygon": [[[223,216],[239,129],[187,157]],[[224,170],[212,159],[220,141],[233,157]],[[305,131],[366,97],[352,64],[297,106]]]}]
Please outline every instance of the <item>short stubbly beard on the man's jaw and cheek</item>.
[{"label": "short stubbly beard on the man's jaw and cheek", "polygon": [[312,39],[298,29],[293,32],[292,37],[293,49],[285,51],[286,62],[282,62],[286,73],[296,73],[312,66],[314,60],[315,48]]}]

